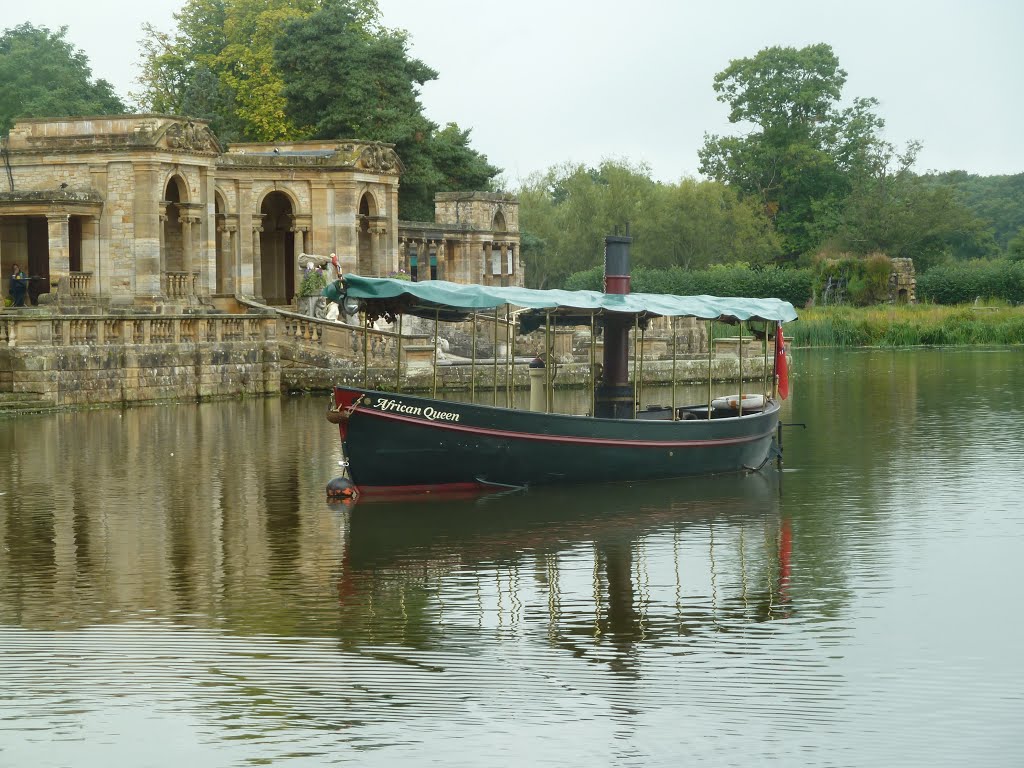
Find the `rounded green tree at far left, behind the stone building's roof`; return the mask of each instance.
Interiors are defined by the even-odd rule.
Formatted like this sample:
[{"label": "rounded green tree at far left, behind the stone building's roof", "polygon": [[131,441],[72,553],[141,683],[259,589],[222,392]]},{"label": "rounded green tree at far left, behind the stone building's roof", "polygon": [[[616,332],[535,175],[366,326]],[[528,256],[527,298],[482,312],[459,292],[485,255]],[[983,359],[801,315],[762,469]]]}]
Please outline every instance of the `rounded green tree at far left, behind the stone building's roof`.
[{"label": "rounded green tree at far left, behind the stone building's roof", "polygon": [[0,130],[15,118],[128,112],[109,82],[92,80],[88,58],[67,34],[67,27],[23,24],[0,36]]}]

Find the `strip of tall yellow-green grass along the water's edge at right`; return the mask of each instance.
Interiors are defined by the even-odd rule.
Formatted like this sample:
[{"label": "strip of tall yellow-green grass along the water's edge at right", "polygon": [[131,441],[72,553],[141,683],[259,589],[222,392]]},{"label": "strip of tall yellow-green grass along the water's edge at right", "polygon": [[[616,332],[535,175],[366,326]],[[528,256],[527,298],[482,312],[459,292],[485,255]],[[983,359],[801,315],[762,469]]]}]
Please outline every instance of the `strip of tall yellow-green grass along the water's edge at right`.
[{"label": "strip of tall yellow-green grass along the water's edge at right", "polygon": [[1024,307],[814,307],[786,326],[795,346],[1024,344]]}]

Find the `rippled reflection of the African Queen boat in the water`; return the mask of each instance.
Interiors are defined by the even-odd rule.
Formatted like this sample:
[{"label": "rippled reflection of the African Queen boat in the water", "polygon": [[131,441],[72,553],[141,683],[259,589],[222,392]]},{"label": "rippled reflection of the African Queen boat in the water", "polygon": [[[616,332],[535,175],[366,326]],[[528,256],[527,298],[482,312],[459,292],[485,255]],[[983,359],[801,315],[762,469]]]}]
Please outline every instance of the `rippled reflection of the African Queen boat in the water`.
[{"label": "rippled reflection of the African Queen boat in the water", "polygon": [[543,628],[586,652],[782,617],[790,534],[777,481],[360,502],[342,513],[342,638],[429,646],[456,631]]}]

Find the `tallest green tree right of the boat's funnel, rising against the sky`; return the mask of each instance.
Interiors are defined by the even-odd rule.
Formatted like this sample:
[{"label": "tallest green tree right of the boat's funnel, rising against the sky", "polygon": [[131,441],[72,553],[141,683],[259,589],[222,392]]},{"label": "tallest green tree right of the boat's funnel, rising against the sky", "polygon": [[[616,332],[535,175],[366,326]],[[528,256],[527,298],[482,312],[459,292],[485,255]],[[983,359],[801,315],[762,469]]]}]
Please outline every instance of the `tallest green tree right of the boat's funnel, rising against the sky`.
[{"label": "tallest green tree right of the boat's funnel, rising against the sky", "polygon": [[835,226],[851,174],[879,140],[874,99],[837,108],[846,76],[823,43],[765,48],[715,76],[729,122],[750,130],[707,135],[700,172],[756,199],[791,258],[812,251]]}]

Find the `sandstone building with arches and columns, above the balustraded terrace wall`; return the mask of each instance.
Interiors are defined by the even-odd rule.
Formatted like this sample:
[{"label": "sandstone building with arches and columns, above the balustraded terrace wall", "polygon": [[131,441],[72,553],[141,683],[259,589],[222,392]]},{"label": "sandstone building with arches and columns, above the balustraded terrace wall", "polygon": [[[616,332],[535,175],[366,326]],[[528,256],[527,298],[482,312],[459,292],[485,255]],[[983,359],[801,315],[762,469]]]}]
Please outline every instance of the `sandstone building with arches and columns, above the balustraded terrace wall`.
[{"label": "sandstone building with arches and columns, above the balustraded terrace wall", "polygon": [[401,222],[388,144],[225,152],[203,121],[129,115],[23,120],[2,156],[0,268],[20,264],[32,302],[62,313],[289,305],[301,253],[361,274],[522,285],[515,199],[438,195],[435,221]]}]

